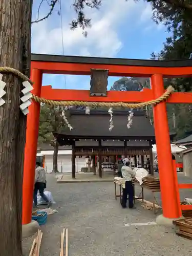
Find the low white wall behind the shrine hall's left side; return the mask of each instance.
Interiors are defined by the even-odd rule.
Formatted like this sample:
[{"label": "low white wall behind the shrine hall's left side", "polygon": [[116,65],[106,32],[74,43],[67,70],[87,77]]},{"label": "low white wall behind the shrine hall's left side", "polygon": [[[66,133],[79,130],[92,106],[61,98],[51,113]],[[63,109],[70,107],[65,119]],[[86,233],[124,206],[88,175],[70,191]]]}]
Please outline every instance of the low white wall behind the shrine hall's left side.
[{"label": "low white wall behind the shrine hall's left side", "polygon": [[[71,173],[71,155],[58,155],[58,172]],[[86,167],[86,158],[75,158],[75,172],[81,172],[81,167]],[[53,170],[53,155],[45,155],[45,169],[47,173]]]}]

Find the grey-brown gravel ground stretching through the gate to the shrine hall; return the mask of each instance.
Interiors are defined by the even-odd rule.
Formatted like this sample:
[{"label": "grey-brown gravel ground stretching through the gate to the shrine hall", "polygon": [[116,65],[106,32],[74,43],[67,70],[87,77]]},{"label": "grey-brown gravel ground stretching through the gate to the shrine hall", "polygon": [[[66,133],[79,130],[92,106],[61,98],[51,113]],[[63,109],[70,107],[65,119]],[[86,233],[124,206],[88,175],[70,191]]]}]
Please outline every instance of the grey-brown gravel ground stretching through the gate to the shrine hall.
[{"label": "grey-brown gravel ground stretching through the gate to the shrine hall", "polygon": [[[125,227],[127,223],[155,221],[156,216],[139,202],[136,209],[122,209],[114,198],[113,183],[58,184],[52,175],[47,180],[57,203],[52,208],[58,212],[48,216],[47,224],[42,226],[40,256],[59,256],[63,228],[69,231],[69,256],[192,255],[192,242],[176,236],[174,228]],[[188,191],[187,196],[192,197],[192,193]],[[145,199],[151,197],[145,191]],[[32,240],[23,241],[25,256],[29,255]]]}]

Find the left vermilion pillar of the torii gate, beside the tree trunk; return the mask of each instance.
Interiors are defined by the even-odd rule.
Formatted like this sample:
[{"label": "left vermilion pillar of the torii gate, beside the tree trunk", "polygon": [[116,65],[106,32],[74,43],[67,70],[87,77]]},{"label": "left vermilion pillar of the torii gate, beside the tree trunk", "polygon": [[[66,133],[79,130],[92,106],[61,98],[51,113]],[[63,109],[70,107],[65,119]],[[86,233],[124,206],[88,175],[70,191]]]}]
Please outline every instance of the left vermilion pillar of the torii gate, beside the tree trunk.
[{"label": "left vermilion pillar of the torii gate, beside the tree trunk", "polygon": [[[42,72],[38,69],[31,70],[31,80],[34,82],[32,93],[40,97]],[[40,104],[32,100],[27,116],[26,144],[24,157],[24,176],[23,176],[23,214],[22,223],[31,222],[33,207],[33,189],[35,179],[35,165],[37,154],[37,140],[39,128]]]}]

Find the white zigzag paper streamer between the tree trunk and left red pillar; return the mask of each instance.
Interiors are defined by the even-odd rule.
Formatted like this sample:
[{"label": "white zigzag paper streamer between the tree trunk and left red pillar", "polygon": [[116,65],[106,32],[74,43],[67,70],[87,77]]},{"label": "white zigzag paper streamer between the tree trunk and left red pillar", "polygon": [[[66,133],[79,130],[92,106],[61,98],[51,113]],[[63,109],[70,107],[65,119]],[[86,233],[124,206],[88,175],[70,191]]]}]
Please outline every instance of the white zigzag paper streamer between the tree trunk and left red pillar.
[{"label": "white zigzag paper streamer between the tree trunk and left red pillar", "polygon": [[24,113],[24,115],[27,115],[29,113],[28,107],[31,105],[31,98],[32,98],[31,90],[33,90],[33,87],[31,86],[31,83],[28,81],[23,82],[23,86],[25,87],[22,90],[22,93],[24,94],[24,96],[20,98],[20,100],[23,103],[20,104],[19,108]]}]

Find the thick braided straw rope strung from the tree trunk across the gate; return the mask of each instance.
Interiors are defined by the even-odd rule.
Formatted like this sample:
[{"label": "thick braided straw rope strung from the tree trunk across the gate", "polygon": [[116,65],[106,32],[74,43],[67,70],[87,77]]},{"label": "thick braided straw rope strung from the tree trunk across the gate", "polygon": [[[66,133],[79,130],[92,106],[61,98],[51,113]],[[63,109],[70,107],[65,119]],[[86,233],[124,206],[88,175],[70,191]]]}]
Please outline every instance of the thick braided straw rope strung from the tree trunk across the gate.
[{"label": "thick braided straw rope strung from the tree trunk across the gate", "polygon": [[[0,73],[12,73],[15,76],[18,76],[22,78],[24,81],[29,81],[31,84],[33,82],[25,76],[23,73],[19,72],[16,69],[9,68],[9,67],[0,67]],[[143,106],[147,105],[156,105],[162,101],[165,101],[170,94],[174,92],[174,88],[172,86],[169,86],[166,91],[157,99],[150,100],[150,101],[145,101],[141,103],[125,103],[125,102],[88,102],[88,101],[56,101],[56,100],[49,100],[45,98],[40,98],[36,95],[33,94],[33,99],[36,102],[39,103],[46,103],[48,105],[52,106],[73,106],[73,105],[78,105],[78,106],[107,106],[107,107],[123,107],[123,108],[131,108],[131,109],[137,109],[137,108],[142,108]]]}]

